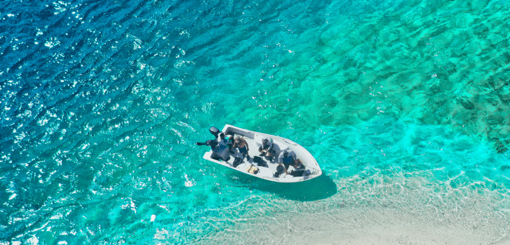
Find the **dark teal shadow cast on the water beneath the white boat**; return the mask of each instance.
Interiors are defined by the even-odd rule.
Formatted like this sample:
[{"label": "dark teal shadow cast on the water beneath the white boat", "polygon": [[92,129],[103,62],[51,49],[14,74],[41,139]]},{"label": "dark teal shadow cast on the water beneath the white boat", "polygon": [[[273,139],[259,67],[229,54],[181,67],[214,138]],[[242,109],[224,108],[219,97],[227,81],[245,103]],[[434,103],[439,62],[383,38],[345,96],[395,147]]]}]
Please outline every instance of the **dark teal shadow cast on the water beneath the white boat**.
[{"label": "dark teal shadow cast on the water beneath the white boat", "polygon": [[329,198],[337,193],[337,185],[324,172],[317,178],[296,183],[277,183],[260,180],[241,173],[233,174],[238,177],[241,186],[271,192],[293,201],[317,201]]}]

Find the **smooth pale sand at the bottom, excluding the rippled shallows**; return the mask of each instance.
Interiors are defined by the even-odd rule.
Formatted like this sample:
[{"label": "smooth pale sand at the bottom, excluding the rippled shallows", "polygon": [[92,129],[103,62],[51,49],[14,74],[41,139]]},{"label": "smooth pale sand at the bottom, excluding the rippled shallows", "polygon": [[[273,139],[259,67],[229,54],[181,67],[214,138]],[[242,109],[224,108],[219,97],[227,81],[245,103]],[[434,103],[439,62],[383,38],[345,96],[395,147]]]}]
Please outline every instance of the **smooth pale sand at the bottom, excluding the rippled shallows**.
[{"label": "smooth pale sand at the bottom, excluding the rippled shallows", "polygon": [[[353,214],[323,217],[320,220],[265,220],[265,224],[240,225],[227,229],[203,244],[508,244],[510,239],[488,224],[417,222],[412,215],[370,213],[362,220]],[[357,220],[356,220],[357,219]],[[358,224],[350,224],[358,221]],[[490,222],[488,222],[490,223]],[[502,225],[502,224],[501,224]],[[251,227],[251,228],[250,228]],[[254,229],[254,228],[260,229]],[[508,230],[508,225],[505,230]]]}]

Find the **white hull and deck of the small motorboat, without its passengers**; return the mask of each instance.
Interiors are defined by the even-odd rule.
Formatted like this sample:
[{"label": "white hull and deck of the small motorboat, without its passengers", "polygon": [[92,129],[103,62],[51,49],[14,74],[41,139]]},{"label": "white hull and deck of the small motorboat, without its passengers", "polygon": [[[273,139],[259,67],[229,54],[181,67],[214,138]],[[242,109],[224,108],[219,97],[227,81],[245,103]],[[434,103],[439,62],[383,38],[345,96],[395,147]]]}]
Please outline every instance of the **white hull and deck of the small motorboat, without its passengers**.
[{"label": "white hull and deck of the small motorboat, without its passengers", "polygon": [[[213,132],[212,130],[216,132]],[[214,127],[211,127],[210,132],[213,135],[219,133],[219,131],[217,131],[217,129]],[[203,155],[203,159],[209,160],[211,162],[217,163],[228,168],[232,168],[234,170],[240,171],[243,174],[251,175],[264,180],[281,183],[301,182],[322,175],[322,170],[320,169],[319,164],[312,156],[312,154],[310,154],[310,152],[304,149],[303,146],[297,144],[296,142],[290,139],[278,137],[275,135],[253,132],[246,129],[234,127],[232,125],[225,125],[225,127],[223,127],[222,132],[225,133],[226,136],[230,136],[228,133],[232,133],[232,137],[239,136],[246,140],[246,142],[248,143],[249,148],[248,155],[250,156],[250,159],[247,160],[246,158],[244,158],[241,164],[234,167],[233,163],[235,158],[236,157],[243,158],[241,153],[239,153],[238,149],[233,149],[234,154],[231,154],[229,153],[228,148],[226,148],[225,150],[225,148],[220,149],[220,147],[211,148],[209,152],[206,152],[206,154]],[[262,139],[264,137],[271,137],[273,139],[273,149],[276,151],[276,153],[273,154],[271,161],[269,161],[268,157],[265,156],[261,157],[259,155],[260,154],[259,147],[262,145]],[[304,165],[304,169],[303,168],[297,169],[296,167],[291,165],[289,166],[289,169],[287,169],[288,172],[291,173],[292,171],[295,171],[294,175],[296,175],[296,173],[299,173],[297,175],[301,175],[302,173],[302,176],[286,175],[285,171],[283,171],[283,173],[280,174],[279,176],[275,175],[276,167],[278,166],[278,156],[281,152],[286,150],[293,151],[296,154],[297,158],[301,160],[301,162]],[[253,157],[262,158],[263,163],[258,164],[253,162]],[[257,168],[258,171],[253,170]]]}]

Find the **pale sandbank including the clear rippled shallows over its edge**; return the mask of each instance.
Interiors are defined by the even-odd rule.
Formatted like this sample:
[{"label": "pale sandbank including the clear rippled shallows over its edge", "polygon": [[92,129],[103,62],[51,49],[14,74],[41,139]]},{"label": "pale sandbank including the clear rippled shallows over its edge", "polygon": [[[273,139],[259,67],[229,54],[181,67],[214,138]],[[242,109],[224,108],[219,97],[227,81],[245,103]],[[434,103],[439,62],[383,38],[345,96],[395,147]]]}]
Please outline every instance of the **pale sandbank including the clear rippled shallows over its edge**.
[{"label": "pale sandbank including the clear rippled shallows over its edge", "polygon": [[321,201],[283,200],[272,214],[234,220],[196,242],[510,244],[510,210],[504,208],[506,198],[501,193],[400,188],[395,195],[396,188],[385,188],[386,194],[371,199],[367,192],[351,191],[346,188]]}]

